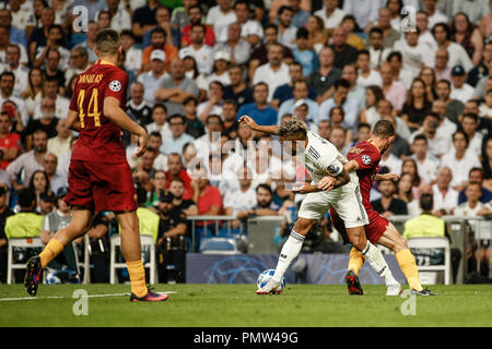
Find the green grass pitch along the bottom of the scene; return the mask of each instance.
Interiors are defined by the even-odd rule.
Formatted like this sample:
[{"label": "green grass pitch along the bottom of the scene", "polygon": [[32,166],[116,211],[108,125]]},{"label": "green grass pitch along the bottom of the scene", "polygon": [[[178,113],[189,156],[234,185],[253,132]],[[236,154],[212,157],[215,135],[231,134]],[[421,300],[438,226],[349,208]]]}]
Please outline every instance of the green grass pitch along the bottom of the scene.
[{"label": "green grass pitch along the bottom of the scene", "polygon": [[[89,294],[87,315],[73,314],[77,289]],[[130,303],[118,296],[129,285],[42,285],[36,298],[22,285],[0,285],[0,326],[492,326],[492,285],[431,289],[438,296],[417,297],[415,315],[403,316],[410,299],[385,297],[384,286],[349,296],[344,285],[288,285],[257,296],[255,285],[157,285],[173,292],[167,301]]]}]

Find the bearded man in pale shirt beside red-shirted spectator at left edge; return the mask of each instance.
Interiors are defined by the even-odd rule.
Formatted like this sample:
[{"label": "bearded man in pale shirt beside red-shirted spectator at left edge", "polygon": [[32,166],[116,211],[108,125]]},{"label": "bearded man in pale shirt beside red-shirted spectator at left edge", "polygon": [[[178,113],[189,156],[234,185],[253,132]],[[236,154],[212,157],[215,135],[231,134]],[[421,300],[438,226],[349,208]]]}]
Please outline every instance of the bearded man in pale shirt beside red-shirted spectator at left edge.
[{"label": "bearded man in pale shirt beside red-shirted spectator at left edge", "polygon": [[23,184],[27,185],[34,171],[43,169],[43,157],[46,154],[47,139],[45,131],[34,131],[33,149],[21,154],[7,167],[15,190],[21,190]]}]

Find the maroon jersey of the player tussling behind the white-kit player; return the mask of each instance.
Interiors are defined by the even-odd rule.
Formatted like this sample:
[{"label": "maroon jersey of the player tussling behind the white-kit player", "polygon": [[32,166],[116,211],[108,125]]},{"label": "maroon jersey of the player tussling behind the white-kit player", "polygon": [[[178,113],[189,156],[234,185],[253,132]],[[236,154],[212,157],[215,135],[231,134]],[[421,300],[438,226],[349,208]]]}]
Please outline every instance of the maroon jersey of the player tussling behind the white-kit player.
[{"label": "maroon jersey of the player tussling behind the white-kit player", "polygon": [[359,142],[350,148],[347,159],[355,160],[359,164],[358,177],[361,186],[362,203],[365,210],[372,209],[371,206],[371,188],[373,185],[373,177],[377,173],[377,167],[380,161],[379,149],[371,142]]}]

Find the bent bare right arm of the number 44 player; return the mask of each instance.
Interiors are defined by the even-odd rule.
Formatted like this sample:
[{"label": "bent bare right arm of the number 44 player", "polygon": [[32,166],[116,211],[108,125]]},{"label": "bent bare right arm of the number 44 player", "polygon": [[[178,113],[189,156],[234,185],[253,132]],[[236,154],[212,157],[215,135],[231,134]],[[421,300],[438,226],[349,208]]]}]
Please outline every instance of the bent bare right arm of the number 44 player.
[{"label": "bent bare right arm of the number 44 player", "polygon": [[149,144],[147,130],[130,119],[130,117],[119,107],[120,101],[115,97],[104,98],[104,115],[116,123],[120,129],[138,135],[138,148],[136,156],[142,156]]}]

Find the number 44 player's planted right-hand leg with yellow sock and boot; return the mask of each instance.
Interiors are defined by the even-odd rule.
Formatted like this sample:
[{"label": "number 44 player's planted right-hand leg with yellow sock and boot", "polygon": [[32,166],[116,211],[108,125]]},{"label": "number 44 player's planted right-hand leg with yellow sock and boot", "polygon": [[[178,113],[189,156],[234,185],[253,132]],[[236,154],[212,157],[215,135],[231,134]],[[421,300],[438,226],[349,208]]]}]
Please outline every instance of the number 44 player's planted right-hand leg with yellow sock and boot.
[{"label": "number 44 player's planted right-hand leg with yellow sock and boot", "polygon": [[130,275],[130,301],[165,301],[168,298],[167,294],[153,292],[145,285],[137,212],[118,213],[116,219],[120,227],[121,253]]}]

